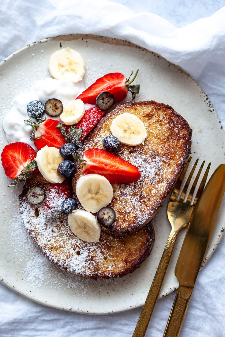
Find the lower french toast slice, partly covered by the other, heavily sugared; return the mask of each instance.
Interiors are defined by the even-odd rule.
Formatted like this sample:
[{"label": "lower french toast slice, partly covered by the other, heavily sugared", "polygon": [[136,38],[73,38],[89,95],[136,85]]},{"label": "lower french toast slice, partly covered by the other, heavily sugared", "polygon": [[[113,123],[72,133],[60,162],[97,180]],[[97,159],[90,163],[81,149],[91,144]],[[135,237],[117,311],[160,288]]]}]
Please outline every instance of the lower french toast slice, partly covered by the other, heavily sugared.
[{"label": "lower french toast slice, partly covered by the other, heavily sugared", "polygon": [[[154,243],[151,224],[128,238],[115,238],[101,232],[99,242],[80,240],[70,230],[68,215],[59,219],[46,219],[44,207],[50,183],[41,174],[28,180],[19,196],[20,213],[34,242],[51,262],[59,268],[88,278],[122,277],[132,273],[150,254]],[[27,201],[31,186],[45,190],[45,199],[38,205]]]}]

